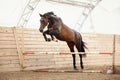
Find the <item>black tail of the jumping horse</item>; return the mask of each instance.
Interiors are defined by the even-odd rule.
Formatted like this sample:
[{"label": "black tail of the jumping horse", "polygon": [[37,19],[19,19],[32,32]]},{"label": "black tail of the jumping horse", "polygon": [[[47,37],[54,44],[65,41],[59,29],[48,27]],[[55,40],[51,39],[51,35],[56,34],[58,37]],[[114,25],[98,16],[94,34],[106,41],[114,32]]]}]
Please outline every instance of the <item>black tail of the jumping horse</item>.
[{"label": "black tail of the jumping horse", "polygon": [[77,43],[76,43],[76,48],[78,49],[79,52],[85,52],[85,48],[87,49],[85,42],[82,40],[82,36],[80,33],[77,33]]}]

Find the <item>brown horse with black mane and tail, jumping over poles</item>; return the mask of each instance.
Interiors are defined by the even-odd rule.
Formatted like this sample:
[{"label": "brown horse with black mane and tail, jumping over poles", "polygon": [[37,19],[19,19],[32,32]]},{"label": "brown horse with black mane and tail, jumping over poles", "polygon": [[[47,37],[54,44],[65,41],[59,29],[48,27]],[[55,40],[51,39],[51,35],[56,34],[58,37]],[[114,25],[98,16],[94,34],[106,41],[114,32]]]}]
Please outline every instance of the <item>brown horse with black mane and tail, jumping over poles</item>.
[{"label": "brown horse with black mane and tail, jumping over poles", "polygon": [[[70,49],[70,52],[74,51],[74,46],[77,48],[78,52],[85,52],[85,42],[82,40],[82,36],[79,32],[69,28],[63,23],[60,17],[57,17],[53,12],[47,12],[45,14],[40,14],[40,28],[39,31],[43,33],[46,41],[48,41],[46,34],[51,35],[52,40],[56,37],[58,40],[65,41]],[[47,30],[43,31],[47,26]],[[53,37],[54,36],[54,37]],[[72,54],[73,57],[73,68],[76,70],[76,55]],[[82,54],[79,54],[81,69],[84,69]]]}]

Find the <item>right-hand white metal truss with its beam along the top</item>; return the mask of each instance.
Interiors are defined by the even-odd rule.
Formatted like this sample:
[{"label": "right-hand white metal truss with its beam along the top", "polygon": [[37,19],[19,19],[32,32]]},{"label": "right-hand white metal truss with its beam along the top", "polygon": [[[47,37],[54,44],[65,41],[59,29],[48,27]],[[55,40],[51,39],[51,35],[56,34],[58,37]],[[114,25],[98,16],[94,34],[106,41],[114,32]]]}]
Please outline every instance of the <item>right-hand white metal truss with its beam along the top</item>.
[{"label": "right-hand white metal truss with its beam along the top", "polygon": [[[46,1],[51,1],[51,2],[58,2],[62,4],[68,4],[68,5],[73,5],[73,6],[79,6],[83,7],[84,10],[78,19],[77,23],[75,24],[75,29],[77,31],[80,31],[83,27],[84,22],[88,18],[89,14],[91,11],[97,6],[97,4],[101,0],[46,0]],[[94,29],[94,27],[92,27]]]}]

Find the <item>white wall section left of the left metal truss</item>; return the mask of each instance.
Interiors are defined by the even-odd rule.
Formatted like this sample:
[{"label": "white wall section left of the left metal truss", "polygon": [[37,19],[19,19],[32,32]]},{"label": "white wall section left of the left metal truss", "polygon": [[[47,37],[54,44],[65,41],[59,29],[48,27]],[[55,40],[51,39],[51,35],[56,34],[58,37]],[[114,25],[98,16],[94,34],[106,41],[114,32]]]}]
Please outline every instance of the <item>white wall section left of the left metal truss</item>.
[{"label": "white wall section left of the left metal truss", "polygon": [[0,0],[0,26],[15,26],[28,0]]}]

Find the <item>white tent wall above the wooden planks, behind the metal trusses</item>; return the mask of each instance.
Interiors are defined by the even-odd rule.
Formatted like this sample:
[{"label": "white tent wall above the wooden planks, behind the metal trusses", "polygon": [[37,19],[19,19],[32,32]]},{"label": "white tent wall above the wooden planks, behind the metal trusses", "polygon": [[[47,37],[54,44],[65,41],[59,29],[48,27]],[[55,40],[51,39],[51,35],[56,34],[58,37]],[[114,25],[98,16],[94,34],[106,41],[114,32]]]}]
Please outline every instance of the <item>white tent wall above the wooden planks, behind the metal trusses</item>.
[{"label": "white tent wall above the wooden planks, behind the metal trusses", "polygon": [[[0,0],[0,26],[16,26],[29,0]],[[39,13],[53,11],[63,22],[75,29],[82,7],[40,1],[26,27],[39,28]],[[120,1],[102,0],[86,20],[81,32],[120,34]],[[79,31],[79,30],[78,30]]]}]

